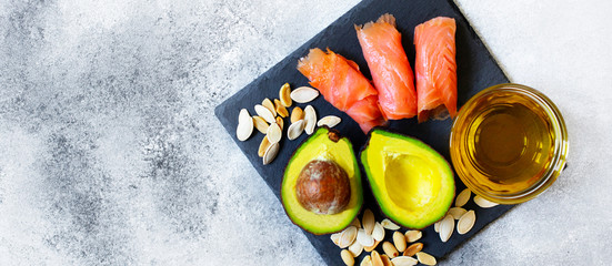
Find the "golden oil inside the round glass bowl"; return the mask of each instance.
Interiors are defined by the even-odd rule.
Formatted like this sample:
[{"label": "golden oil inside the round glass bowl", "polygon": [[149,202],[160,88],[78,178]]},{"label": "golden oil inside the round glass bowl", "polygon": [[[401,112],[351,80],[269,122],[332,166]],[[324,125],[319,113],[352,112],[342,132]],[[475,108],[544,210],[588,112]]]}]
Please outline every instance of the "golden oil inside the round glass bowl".
[{"label": "golden oil inside the round glass bowl", "polygon": [[463,151],[458,172],[468,173],[489,194],[514,194],[532,187],[554,157],[550,115],[533,99],[500,92],[474,103],[472,117],[453,129]]}]

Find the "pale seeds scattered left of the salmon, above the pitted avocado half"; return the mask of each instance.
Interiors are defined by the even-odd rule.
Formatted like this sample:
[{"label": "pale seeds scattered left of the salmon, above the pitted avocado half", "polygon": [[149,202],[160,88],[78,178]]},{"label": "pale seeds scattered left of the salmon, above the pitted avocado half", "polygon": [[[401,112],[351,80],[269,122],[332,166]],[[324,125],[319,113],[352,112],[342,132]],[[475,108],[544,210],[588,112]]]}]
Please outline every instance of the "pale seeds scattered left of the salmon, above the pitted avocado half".
[{"label": "pale seeds scattered left of the salmon, above the pitted avocado half", "polygon": [[312,105],[305,106],[304,110],[295,106],[289,115],[288,108],[291,108],[293,102],[309,103],[317,96],[319,96],[319,91],[310,86],[300,86],[291,91],[289,83],[284,83],[279,90],[280,100],[272,101],[267,98],[261,104],[255,104],[254,111],[258,115],[251,116],[247,109],[240,110],[235,136],[239,141],[247,141],[253,133],[253,129],[264,134],[265,136],[259,145],[258,155],[263,158],[264,165],[269,164],[279,153],[284,117],[290,117],[291,121],[287,130],[287,139],[290,141],[298,139],[304,131],[310,135],[317,126],[333,127],[341,122],[340,117],[334,115],[328,115],[317,121],[317,112]]}]

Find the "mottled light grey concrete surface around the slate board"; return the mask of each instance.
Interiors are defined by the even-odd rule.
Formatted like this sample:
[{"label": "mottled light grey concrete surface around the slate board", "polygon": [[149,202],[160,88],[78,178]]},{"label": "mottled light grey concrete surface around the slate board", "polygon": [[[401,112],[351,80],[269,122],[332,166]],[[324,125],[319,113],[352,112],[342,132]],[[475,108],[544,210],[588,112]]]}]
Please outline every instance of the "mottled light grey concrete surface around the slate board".
[{"label": "mottled light grey concrete surface around the slate board", "polygon": [[[0,265],[320,265],[213,108],[358,1],[0,1]],[[570,167],[441,265],[609,265],[612,6],[458,1]]]}]

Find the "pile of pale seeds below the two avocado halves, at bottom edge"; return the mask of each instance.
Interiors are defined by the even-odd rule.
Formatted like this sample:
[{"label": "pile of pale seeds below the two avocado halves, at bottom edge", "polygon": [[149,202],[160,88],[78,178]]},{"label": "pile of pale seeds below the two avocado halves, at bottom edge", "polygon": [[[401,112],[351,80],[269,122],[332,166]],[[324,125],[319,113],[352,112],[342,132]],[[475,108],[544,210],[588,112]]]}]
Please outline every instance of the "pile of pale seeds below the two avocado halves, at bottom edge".
[{"label": "pile of pale seeds below the two avocado halves, at bottom edge", "polygon": [[[383,242],[385,229],[392,231],[391,242]],[[363,250],[370,255],[361,260],[361,266],[408,266],[417,265],[435,265],[435,258],[424,252],[423,244],[418,243],[423,234],[420,231],[407,231],[404,234],[399,232],[400,226],[390,219],[377,222],[374,214],[370,209],[365,209],[362,216],[362,223],[355,218],[349,227],[340,233],[331,235],[331,241],[340,248],[345,248],[340,252],[342,262],[351,266],[354,265],[354,258],[361,255]],[[380,254],[375,250],[377,246],[382,243]],[[410,246],[408,245],[410,244]],[[417,258],[414,258],[417,256]]]}]

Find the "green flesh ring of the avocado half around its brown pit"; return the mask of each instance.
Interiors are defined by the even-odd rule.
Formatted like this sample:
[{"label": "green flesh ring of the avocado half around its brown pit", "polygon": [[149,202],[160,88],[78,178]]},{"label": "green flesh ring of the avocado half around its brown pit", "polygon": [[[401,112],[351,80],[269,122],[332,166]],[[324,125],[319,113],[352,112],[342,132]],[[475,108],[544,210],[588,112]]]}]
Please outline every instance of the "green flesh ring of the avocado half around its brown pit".
[{"label": "green flesh ring of the avocado half around its brown pit", "polygon": [[[298,200],[297,184],[300,173],[313,160],[332,161],[347,173],[350,198],[335,214],[317,214],[304,208]],[[281,185],[281,202],[289,218],[310,233],[330,234],[349,226],[363,203],[361,175],[351,142],[328,127],[317,130],[295,150],[287,164]]]}]

